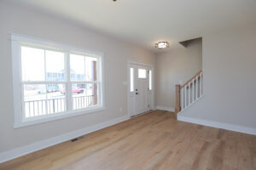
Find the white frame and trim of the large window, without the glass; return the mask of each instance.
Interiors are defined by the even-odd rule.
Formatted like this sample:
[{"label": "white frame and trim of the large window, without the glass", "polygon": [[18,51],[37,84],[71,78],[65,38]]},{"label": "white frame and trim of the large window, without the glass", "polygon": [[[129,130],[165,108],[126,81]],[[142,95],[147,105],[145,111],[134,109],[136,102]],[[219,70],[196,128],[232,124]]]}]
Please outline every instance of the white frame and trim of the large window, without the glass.
[{"label": "white frame and trim of the large window, without the glass", "polygon": [[[55,114],[49,114],[45,116],[35,116],[30,118],[25,118],[24,114],[25,111],[23,109],[23,90],[22,87],[22,75],[21,75],[21,45],[32,47],[32,48],[43,48],[47,50],[54,50],[54,51],[60,51],[65,54],[65,68],[66,68],[66,81],[65,82],[49,82],[49,84],[55,84],[55,83],[64,83],[64,84],[72,84],[72,83],[80,83],[76,81],[70,80],[70,59],[69,54],[82,54],[89,57],[94,57],[98,59],[97,64],[97,81],[83,81],[81,83],[86,82],[96,82],[98,84],[98,91],[99,91],[99,105],[88,107],[84,109],[79,110],[73,110],[73,104],[72,104],[72,89],[71,86],[69,88],[65,87],[66,91],[70,90],[70,93],[66,93],[66,100],[67,105],[66,107],[69,107],[68,110],[61,113],[55,113]],[[13,93],[14,93],[14,112],[15,112],[15,123],[14,127],[26,127],[31,126],[34,124],[42,123],[42,122],[50,122],[59,120],[62,118],[67,118],[71,116],[79,116],[83,114],[98,112],[105,110],[105,102],[104,102],[104,57],[102,53],[95,53],[88,50],[80,49],[80,48],[73,48],[67,45],[62,45],[60,43],[55,42],[49,42],[45,40],[40,40],[38,38],[34,37],[26,37],[18,34],[11,34],[11,46],[12,46],[12,64],[13,64]],[[43,83],[46,83],[47,81],[43,81]],[[32,82],[33,84],[34,82]],[[40,83],[40,82],[36,82]],[[68,106],[69,105],[69,106]]]}]

